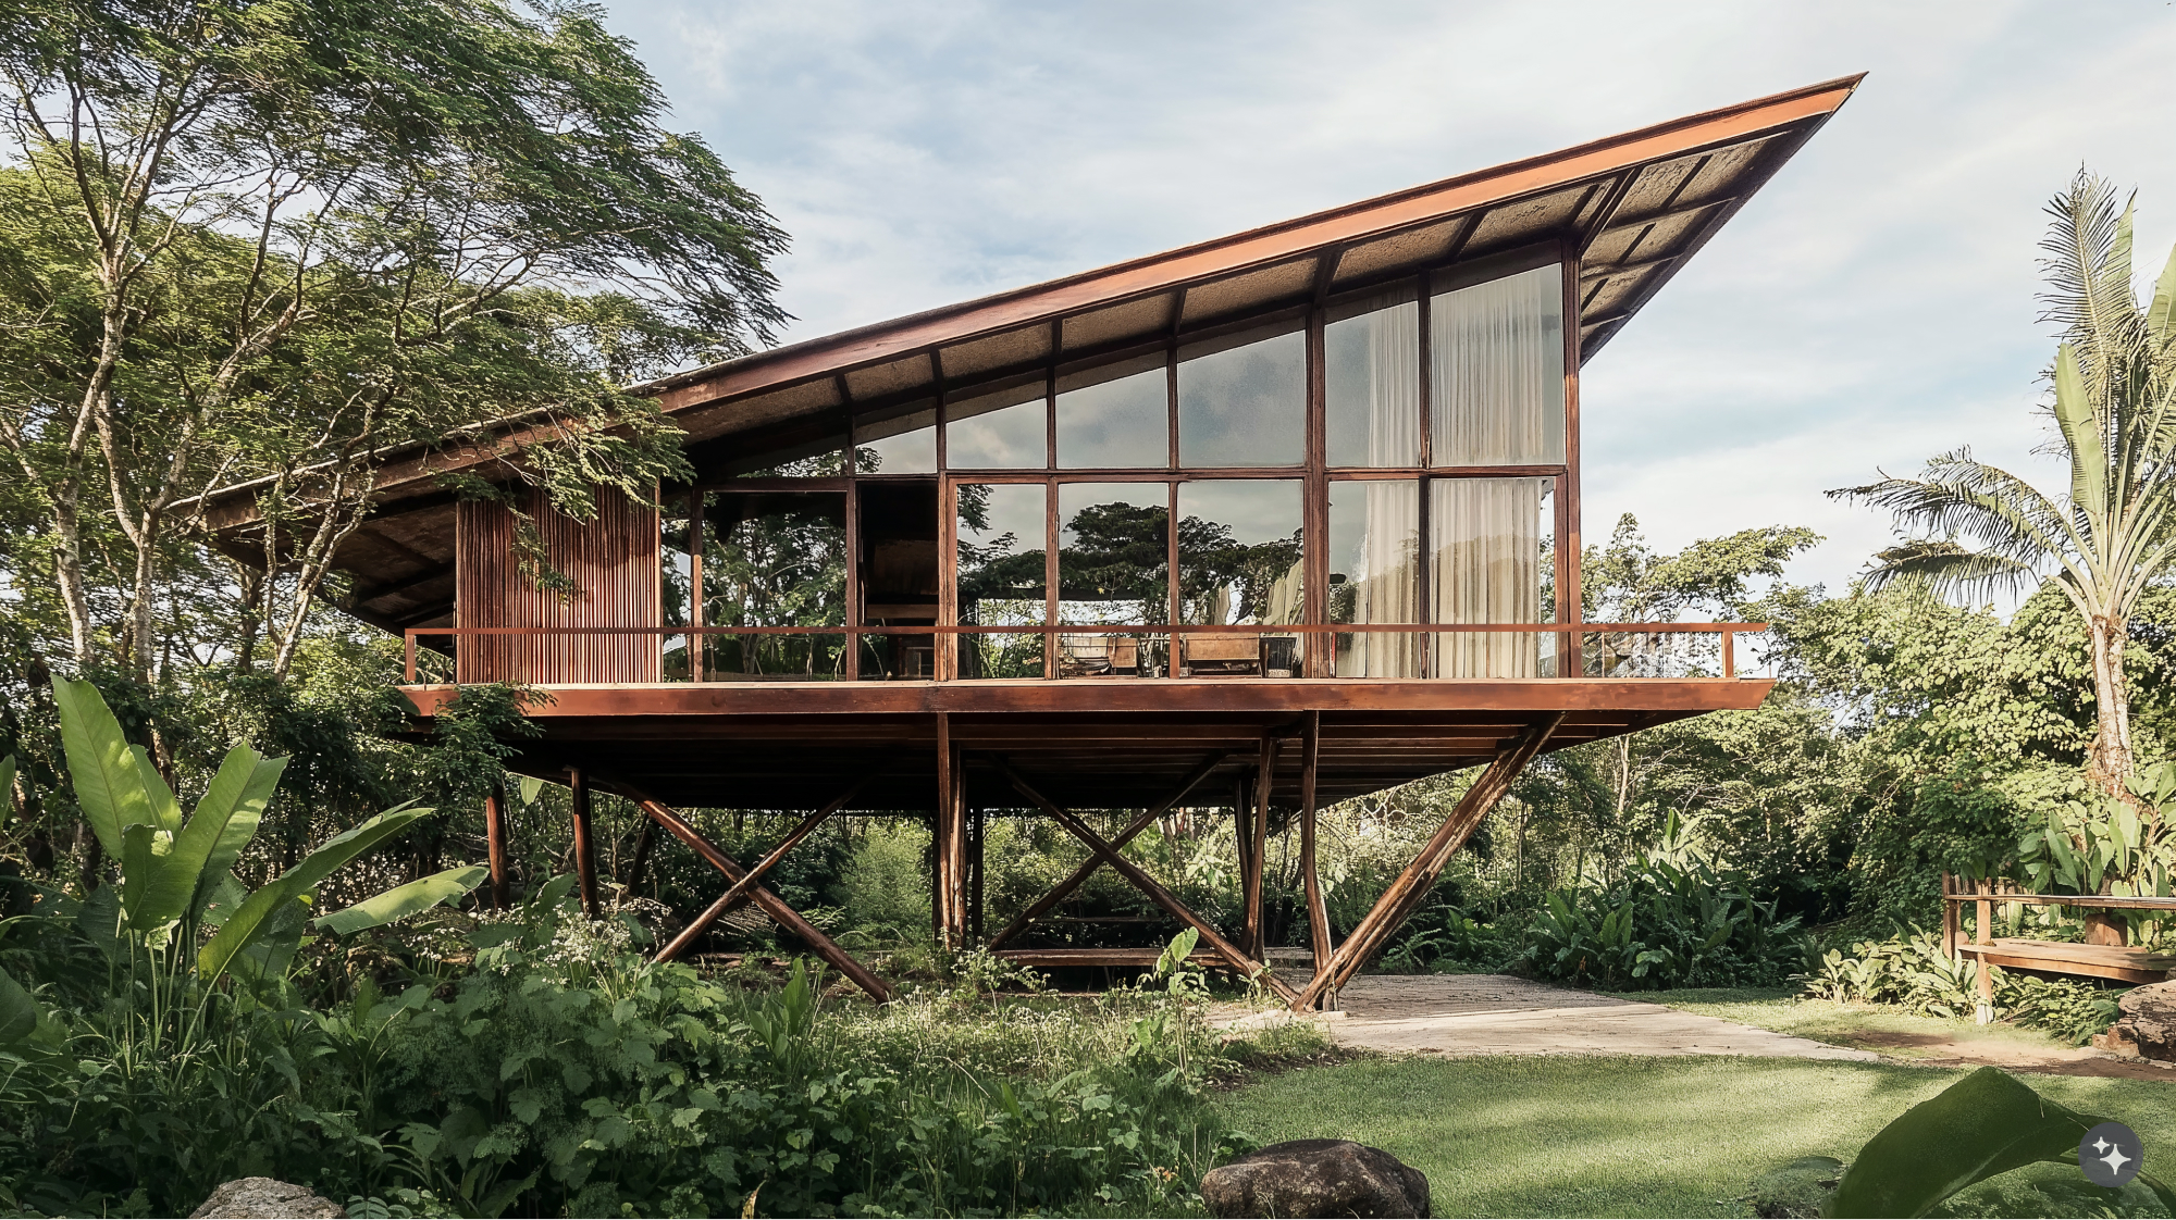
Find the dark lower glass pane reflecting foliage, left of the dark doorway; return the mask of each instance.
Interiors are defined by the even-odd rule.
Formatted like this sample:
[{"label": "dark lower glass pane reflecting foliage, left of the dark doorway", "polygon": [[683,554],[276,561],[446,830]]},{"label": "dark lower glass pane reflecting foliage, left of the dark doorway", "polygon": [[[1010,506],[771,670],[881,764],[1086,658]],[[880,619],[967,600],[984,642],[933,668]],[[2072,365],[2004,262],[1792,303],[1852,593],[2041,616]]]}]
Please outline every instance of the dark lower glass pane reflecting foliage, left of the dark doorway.
[{"label": "dark lower glass pane reflecting foliage, left of the dark doorway", "polygon": [[[712,491],[703,500],[703,622],[846,622],[846,496]],[[720,681],[838,679],[844,642],[844,635],[709,635],[705,674]]]}]

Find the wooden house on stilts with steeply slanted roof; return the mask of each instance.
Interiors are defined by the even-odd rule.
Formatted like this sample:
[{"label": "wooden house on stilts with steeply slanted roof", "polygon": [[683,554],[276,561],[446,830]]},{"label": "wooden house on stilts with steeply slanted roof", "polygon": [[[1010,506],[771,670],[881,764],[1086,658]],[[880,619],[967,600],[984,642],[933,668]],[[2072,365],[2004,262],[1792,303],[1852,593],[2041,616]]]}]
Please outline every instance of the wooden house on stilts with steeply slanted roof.
[{"label": "wooden house on stilts with steeply slanted roof", "polygon": [[[694,485],[592,522],[533,505],[577,594],[520,572],[511,444],[387,455],[342,548],[350,607],[405,633],[426,722],[457,683],[548,692],[518,772],[635,800],[877,996],[766,885],[836,813],[929,818],[944,942],[1005,950],[1108,866],[1234,970],[1264,961],[1271,809],[1297,818],[1314,970],[1334,996],[1545,750],[1715,709],[1758,624],[1580,620],[1580,365],[1843,104],[1856,78],[1602,139],[1251,233],[792,344],[642,387]],[[509,424],[509,437],[520,424]],[[222,546],[261,557],[246,487]],[[1343,942],[1314,876],[1323,802],[1484,768]],[[1227,809],[1245,922],[1225,935],[1125,855],[1173,807]],[[677,811],[805,809],[762,861]],[[981,926],[988,809],[1090,852]],[[1084,809],[1138,811],[1103,837]],[[494,885],[505,885],[498,811]],[[1058,957],[1016,950],[1027,961]]]}]

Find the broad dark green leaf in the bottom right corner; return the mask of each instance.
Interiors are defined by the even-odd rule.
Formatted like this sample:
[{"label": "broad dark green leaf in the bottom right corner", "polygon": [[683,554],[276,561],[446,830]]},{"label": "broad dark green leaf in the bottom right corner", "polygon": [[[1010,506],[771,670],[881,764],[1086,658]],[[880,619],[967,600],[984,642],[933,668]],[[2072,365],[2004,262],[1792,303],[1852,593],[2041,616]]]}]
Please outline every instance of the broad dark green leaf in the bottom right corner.
[{"label": "broad dark green leaf in the bottom right corner", "polygon": [[[1821,1216],[1926,1216],[1952,1194],[2037,1161],[2076,1163],[2109,1122],[2052,1103],[2000,1068],[1980,1068],[1882,1126],[1843,1172]],[[2176,1207],[2159,1181],[2139,1174]]]}]

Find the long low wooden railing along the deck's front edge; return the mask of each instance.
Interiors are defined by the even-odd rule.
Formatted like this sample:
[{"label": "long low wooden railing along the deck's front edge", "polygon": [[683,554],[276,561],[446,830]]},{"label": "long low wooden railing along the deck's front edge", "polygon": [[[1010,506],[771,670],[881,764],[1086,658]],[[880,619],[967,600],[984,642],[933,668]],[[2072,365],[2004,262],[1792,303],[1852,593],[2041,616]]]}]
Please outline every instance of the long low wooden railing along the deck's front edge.
[{"label": "long low wooden railing along the deck's front edge", "polygon": [[[670,683],[735,683],[735,681],[781,681],[781,679],[803,679],[803,681],[897,681],[897,679],[923,679],[923,681],[964,681],[979,676],[1007,676],[1007,679],[1105,679],[1105,676],[1132,676],[1132,679],[1171,679],[1171,676],[1234,676],[1234,679],[1290,679],[1301,676],[1310,665],[1319,672],[1316,676],[1332,679],[1340,676],[1347,681],[1371,681],[1371,679],[1543,679],[1543,681],[1593,681],[1593,679],[1654,679],[1654,681],[1682,681],[1682,679],[1739,679],[1736,672],[1736,637],[1743,633],[1767,631],[1765,622],[1517,622],[1517,624],[1014,624],[1014,626],[411,626],[405,635],[407,665],[405,681],[409,685],[418,683],[418,639],[474,639],[474,637],[657,637],[659,661],[670,657],[675,650],[666,648],[668,639],[683,639],[681,661],[683,670],[675,676],[664,676],[666,668],[659,665],[662,681]],[[964,663],[966,650],[957,644],[962,637],[1044,637],[1040,648],[1042,672],[1021,672],[1021,674],[981,674],[966,672],[975,665]],[[1410,672],[1360,672],[1360,674],[1336,674],[1336,650],[1338,639],[1327,644],[1316,644],[1306,648],[1301,637],[1421,637],[1408,648],[1390,648],[1386,652],[1377,650],[1367,663],[1356,668],[1375,665],[1377,670],[1410,670]],[[1510,657],[1501,650],[1497,655],[1473,657],[1471,650],[1482,646],[1482,642],[1469,642],[1464,648],[1469,655],[1460,657],[1458,648],[1447,644],[1458,637],[1473,635],[1532,635],[1536,639],[1536,650],[1532,657]],[[781,672],[749,672],[749,670],[712,670],[707,655],[712,652],[714,639],[766,639],[766,637],[805,637],[812,642],[831,639],[838,642],[838,665],[833,670],[781,670]],[[916,668],[883,668],[866,674],[862,672],[862,648],[870,639],[903,637],[903,642],[927,642],[929,672]],[[1053,639],[1055,637],[1055,639]],[[1103,637],[1101,648],[1095,646],[1097,637]],[[1251,637],[1249,644],[1234,637]],[[1708,644],[1702,637],[1719,637]],[[938,648],[938,642],[949,642]],[[1282,646],[1275,642],[1290,642]],[[1310,659],[1308,652],[1314,652]],[[814,655],[814,650],[812,650]],[[977,652],[979,655],[979,652]],[[1388,657],[1388,659],[1386,659]],[[1558,663],[1560,657],[1578,657],[1578,672],[1562,672],[1565,665]],[[1279,665],[1284,661],[1284,665]],[[1532,661],[1532,665],[1528,665]],[[511,663],[511,659],[503,661]],[[1029,661],[1034,668],[1036,661]],[[1491,668],[1532,668],[1534,672],[1473,672]],[[1443,670],[1443,672],[1436,672]],[[1545,672],[1543,672],[1545,670]],[[553,685],[553,681],[594,681],[594,679],[544,679],[537,674],[496,674],[481,679],[463,679],[455,674],[457,681],[527,681],[533,685]]]}]

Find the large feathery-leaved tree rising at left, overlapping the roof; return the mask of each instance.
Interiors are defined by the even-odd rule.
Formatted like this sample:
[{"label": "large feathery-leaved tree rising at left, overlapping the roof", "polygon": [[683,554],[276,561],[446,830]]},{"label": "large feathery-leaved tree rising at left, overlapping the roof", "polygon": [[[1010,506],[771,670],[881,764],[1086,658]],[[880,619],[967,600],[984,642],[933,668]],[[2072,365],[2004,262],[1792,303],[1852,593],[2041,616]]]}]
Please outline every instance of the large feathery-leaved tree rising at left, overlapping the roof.
[{"label": "large feathery-leaved tree rising at left, overlapping the roof", "polygon": [[0,448],[76,665],[100,518],[148,676],[194,496],[248,483],[242,594],[283,672],[379,452],[483,439],[561,511],[648,498],[683,459],[618,385],[783,320],[783,235],[588,7],[28,0],[0,78]]}]

